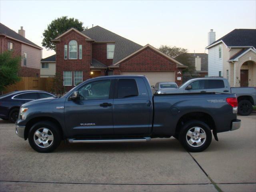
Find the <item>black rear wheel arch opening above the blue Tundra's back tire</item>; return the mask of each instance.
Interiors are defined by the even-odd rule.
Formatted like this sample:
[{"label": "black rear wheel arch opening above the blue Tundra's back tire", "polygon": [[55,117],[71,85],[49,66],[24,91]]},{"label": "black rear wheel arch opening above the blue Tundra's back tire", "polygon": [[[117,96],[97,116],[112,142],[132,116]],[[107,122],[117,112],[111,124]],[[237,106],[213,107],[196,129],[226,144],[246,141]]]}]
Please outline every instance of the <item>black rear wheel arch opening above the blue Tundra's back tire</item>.
[{"label": "black rear wheel arch opening above the blue Tundra's back tire", "polygon": [[180,117],[176,124],[175,136],[177,137],[180,133],[182,125],[190,120],[200,120],[206,123],[213,132],[216,132],[216,124],[212,116],[206,112],[189,112]]}]

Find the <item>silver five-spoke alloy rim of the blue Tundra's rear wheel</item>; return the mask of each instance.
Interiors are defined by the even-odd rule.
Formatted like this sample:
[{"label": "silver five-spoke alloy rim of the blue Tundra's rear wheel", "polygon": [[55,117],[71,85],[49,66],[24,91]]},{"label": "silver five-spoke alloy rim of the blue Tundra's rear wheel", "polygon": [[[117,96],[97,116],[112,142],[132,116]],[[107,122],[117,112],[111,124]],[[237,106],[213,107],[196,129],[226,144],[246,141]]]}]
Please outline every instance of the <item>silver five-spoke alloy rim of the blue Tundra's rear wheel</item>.
[{"label": "silver five-spoke alloy rim of the blue Tundra's rear wheel", "polygon": [[206,133],[200,127],[192,127],[186,134],[186,140],[192,147],[200,147],[206,141]]}]

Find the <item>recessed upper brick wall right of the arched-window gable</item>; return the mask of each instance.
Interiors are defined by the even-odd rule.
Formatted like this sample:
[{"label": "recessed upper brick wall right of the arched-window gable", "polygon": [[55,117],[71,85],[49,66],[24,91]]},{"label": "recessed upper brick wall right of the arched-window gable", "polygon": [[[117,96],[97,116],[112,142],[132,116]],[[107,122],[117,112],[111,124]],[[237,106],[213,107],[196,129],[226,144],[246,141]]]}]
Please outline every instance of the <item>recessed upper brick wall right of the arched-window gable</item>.
[{"label": "recessed upper brick wall right of the arched-window gable", "polygon": [[113,59],[107,59],[107,44],[106,43],[94,43],[92,44],[92,58],[102,62],[106,66],[110,66],[113,63]]}]

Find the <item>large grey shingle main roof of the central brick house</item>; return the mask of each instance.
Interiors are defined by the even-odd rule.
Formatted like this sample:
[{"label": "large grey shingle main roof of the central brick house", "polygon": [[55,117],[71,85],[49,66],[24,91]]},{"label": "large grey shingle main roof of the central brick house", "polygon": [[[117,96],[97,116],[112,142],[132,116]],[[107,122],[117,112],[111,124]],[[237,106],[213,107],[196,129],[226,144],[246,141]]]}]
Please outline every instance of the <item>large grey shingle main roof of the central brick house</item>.
[{"label": "large grey shingle main roof of the central brick house", "polygon": [[132,54],[136,50],[142,48],[141,45],[128,40],[118,34],[115,34],[109,30],[106,30],[100,26],[95,26],[90,29],[86,29],[82,32],[86,36],[89,36],[95,42],[114,42],[114,58],[113,64],[120,61],[122,58]]}]

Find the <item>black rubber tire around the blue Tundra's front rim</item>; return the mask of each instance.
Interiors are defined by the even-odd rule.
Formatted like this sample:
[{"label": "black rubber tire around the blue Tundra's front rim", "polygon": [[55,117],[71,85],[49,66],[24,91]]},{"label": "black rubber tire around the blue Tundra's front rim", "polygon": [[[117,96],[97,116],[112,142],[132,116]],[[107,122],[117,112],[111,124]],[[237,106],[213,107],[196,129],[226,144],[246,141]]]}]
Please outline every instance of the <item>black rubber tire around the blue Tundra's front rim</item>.
[{"label": "black rubber tire around the blue Tundra's front rim", "polygon": [[[37,130],[40,130],[40,129],[43,129],[43,128],[46,128],[48,130],[50,130],[48,133],[49,133],[49,136],[52,135],[52,142],[48,142],[50,145],[48,147],[45,147],[44,144],[40,144],[40,146],[38,144],[36,144],[35,140],[34,140],[34,137],[35,137],[35,132]],[[43,133],[42,133],[43,135]],[[39,140],[40,138],[38,138]],[[37,140],[37,139],[36,139]],[[42,139],[41,139],[42,140]],[[54,151],[59,145],[60,145],[60,142],[61,142],[61,134],[60,134],[60,130],[58,129],[58,127],[56,126],[56,124],[50,122],[50,121],[41,121],[41,122],[38,122],[36,124],[34,124],[30,130],[29,130],[29,133],[28,133],[28,142],[30,144],[30,146],[37,152],[40,152],[40,153],[48,153],[48,152],[52,152]],[[42,148],[44,147],[44,148]]]}]

